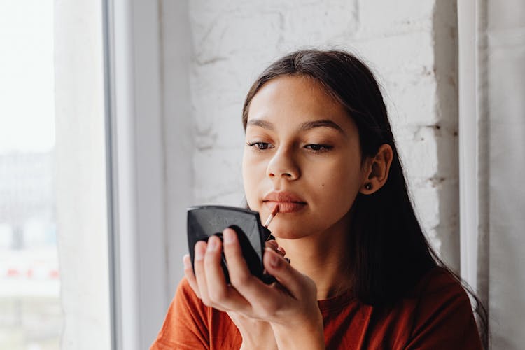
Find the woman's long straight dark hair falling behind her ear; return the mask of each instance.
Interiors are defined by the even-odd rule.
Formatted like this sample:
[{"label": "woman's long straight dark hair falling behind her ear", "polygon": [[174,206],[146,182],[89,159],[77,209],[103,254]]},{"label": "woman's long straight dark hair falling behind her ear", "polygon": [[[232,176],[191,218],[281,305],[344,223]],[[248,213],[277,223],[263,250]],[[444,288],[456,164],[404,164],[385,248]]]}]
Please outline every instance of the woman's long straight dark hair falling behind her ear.
[{"label": "woman's long straight dark hair falling behind her ear", "polygon": [[[409,198],[386,106],[370,69],[354,55],[339,50],[302,50],[287,55],[271,64],[253,83],[242,112],[244,130],[251,99],[269,80],[286,75],[313,78],[344,106],[358,127],[362,162],[374,157],[382,144],[393,150],[384,186],[372,195],[358,194],[352,207],[349,271],[356,297],[365,304],[388,307],[438,265],[462,282],[423,235]],[[483,336],[486,312],[466,287],[477,301]]]}]

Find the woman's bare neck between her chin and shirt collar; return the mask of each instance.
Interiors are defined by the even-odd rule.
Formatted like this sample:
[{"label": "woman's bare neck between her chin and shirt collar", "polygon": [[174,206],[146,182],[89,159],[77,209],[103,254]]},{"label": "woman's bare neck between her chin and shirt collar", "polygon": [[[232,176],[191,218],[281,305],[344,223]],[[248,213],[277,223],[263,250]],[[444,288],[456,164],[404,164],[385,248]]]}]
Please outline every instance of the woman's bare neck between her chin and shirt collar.
[{"label": "woman's bare neck between her chin and shirt collar", "polygon": [[335,297],[351,288],[348,227],[346,222],[339,222],[324,232],[300,239],[277,238],[290,264],[316,283],[317,300]]}]

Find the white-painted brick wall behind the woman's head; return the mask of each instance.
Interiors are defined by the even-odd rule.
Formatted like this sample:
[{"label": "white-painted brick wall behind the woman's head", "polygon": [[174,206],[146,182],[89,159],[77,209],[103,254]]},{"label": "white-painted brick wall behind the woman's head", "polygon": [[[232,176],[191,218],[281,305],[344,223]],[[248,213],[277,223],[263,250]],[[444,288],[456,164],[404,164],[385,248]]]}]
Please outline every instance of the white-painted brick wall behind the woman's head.
[{"label": "white-painted brick wall behind the woman's head", "polygon": [[195,203],[240,204],[241,107],[262,69],[300,48],[351,50],[384,87],[421,222],[458,267],[455,8],[454,0],[190,1]]}]

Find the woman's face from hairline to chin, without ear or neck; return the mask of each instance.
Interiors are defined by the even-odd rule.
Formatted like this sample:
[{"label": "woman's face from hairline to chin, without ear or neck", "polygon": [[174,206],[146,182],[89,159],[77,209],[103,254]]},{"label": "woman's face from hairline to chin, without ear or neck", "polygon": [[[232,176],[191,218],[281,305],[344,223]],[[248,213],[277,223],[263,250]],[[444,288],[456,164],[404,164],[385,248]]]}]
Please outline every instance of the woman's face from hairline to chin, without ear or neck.
[{"label": "woman's face from hairline to chin, without ear or neck", "polygon": [[251,100],[243,157],[246,200],[276,237],[347,230],[364,180],[356,124],[320,83],[282,76]]}]

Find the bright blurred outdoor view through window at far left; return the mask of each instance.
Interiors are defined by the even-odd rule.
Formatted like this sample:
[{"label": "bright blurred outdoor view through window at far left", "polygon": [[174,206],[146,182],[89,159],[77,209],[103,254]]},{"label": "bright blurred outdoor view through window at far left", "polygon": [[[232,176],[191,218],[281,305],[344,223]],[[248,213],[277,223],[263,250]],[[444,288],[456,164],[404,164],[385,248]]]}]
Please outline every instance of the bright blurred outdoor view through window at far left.
[{"label": "bright blurred outdoor view through window at far left", "polygon": [[52,0],[0,0],[0,349],[59,349]]}]

